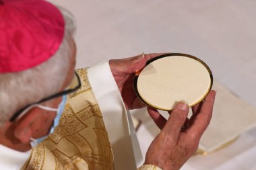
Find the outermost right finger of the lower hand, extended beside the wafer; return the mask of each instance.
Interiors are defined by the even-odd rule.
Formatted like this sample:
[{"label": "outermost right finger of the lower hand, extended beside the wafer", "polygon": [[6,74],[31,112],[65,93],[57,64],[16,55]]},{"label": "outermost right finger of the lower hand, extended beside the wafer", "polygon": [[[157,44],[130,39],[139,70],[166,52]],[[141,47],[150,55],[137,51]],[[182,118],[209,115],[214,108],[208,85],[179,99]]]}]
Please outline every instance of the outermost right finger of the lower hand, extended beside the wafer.
[{"label": "outermost right finger of the lower hand, extended beside the wafer", "polygon": [[200,112],[195,116],[192,125],[187,130],[187,132],[195,138],[201,138],[203,132],[210,124],[215,95],[216,91],[210,91],[210,93],[205,97],[203,104],[201,105]]}]

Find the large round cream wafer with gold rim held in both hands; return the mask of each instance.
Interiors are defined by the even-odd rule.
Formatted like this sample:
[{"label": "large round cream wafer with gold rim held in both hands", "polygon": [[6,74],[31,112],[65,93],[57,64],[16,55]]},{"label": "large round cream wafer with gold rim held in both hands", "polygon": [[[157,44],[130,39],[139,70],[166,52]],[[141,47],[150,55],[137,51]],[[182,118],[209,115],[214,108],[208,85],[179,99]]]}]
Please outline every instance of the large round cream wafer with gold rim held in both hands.
[{"label": "large round cream wafer with gold rim held in both hands", "polygon": [[212,88],[209,67],[195,56],[172,53],[152,58],[135,75],[134,89],[141,101],[159,110],[172,110],[185,100],[199,103]]}]

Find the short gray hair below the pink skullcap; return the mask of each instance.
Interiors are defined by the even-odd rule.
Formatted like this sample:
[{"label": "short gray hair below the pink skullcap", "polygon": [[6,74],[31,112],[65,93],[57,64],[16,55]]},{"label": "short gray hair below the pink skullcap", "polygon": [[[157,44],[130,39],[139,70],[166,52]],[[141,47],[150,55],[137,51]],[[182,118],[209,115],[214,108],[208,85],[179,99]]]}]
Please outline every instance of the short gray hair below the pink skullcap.
[{"label": "short gray hair below the pink skullcap", "polygon": [[75,50],[75,19],[67,9],[57,7],[65,19],[65,34],[54,56],[32,69],[0,74],[0,126],[19,109],[57,93],[63,86]]}]

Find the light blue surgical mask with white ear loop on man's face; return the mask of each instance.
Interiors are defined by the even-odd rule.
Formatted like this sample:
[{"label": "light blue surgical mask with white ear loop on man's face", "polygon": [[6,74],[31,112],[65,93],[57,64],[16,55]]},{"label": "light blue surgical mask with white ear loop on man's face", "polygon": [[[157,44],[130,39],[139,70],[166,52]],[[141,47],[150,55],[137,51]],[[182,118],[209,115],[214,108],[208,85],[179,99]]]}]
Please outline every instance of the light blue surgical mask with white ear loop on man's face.
[{"label": "light blue surgical mask with white ear loop on man's face", "polygon": [[55,112],[57,112],[57,114],[56,114],[55,119],[53,120],[53,126],[51,126],[51,129],[49,130],[48,134],[46,134],[45,136],[42,136],[40,138],[30,138],[30,140],[31,140],[30,146],[32,148],[37,146],[40,142],[42,142],[42,140],[46,139],[49,136],[49,134],[53,133],[56,126],[59,124],[59,120],[61,119],[61,115],[62,115],[63,110],[65,108],[66,100],[67,100],[67,95],[63,95],[62,101],[61,101],[61,103],[59,103],[59,106],[58,106],[57,109],[56,108],[49,108],[49,107],[46,107],[46,106],[43,106],[43,105],[38,105],[38,104],[34,105],[34,107],[38,107],[38,108],[41,108],[41,109],[44,109],[44,110],[55,111]]}]

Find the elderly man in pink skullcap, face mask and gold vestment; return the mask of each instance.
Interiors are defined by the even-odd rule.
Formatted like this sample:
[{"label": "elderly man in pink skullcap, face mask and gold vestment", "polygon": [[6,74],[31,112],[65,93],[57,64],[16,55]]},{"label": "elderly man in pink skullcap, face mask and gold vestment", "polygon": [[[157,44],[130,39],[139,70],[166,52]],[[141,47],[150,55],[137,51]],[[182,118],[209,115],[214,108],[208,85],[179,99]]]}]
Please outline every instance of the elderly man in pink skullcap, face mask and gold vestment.
[{"label": "elderly man in pink skullcap, face mask and gold vestment", "polygon": [[[43,0],[0,0],[0,169],[135,169],[126,109],[133,75],[158,54],[75,68],[72,15]],[[215,91],[179,102],[139,169],[180,169],[210,122]],[[127,118],[128,116],[128,118]],[[187,121],[189,127],[183,129]]]}]

